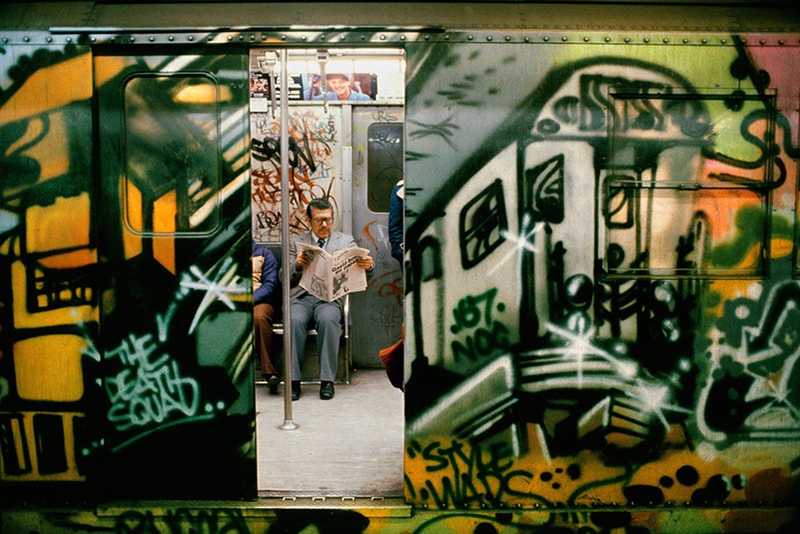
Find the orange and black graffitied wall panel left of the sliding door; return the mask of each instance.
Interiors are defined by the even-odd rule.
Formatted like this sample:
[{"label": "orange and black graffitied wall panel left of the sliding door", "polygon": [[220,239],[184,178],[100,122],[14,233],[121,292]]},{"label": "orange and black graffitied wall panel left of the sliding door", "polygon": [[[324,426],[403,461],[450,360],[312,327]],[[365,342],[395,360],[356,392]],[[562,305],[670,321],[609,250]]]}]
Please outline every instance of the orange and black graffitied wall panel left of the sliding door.
[{"label": "orange and black graffitied wall panel left of the sliding door", "polygon": [[91,408],[99,361],[87,355],[98,322],[97,238],[91,146],[81,139],[90,132],[91,59],[74,46],[17,52],[2,57],[0,479],[82,484],[101,457]]}]

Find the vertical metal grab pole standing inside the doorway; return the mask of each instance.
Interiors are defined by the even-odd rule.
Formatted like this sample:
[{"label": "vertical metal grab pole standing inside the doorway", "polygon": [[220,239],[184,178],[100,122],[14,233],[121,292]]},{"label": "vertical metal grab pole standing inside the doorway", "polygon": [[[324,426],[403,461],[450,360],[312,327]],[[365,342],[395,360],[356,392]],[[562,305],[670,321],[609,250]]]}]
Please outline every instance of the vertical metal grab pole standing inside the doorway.
[{"label": "vertical metal grab pole standing inside the doorway", "polygon": [[294,430],[292,420],[292,313],[290,282],[293,266],[289,265],[289,66],[288,52],[281,50],[281,242],[283,253],[283,425],[281,430]]}]

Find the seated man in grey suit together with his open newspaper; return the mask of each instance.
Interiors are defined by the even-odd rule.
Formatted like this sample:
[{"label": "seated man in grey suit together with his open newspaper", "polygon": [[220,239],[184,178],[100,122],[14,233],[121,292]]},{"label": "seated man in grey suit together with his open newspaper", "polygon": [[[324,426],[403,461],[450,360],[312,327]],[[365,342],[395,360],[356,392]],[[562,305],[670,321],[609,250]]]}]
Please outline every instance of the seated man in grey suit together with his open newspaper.
[{"label": "seated man in grey suit together with his open newspaper", "polygon": [[291,273],[292,400],[300,398],[301,367],[308,328],[317,330],[319,396],[333,398],[339,338],[342,335],[341,297],[367,287],[374,263],[369,251],[356,246],[353,236],[333,230],[333,207],[324,198],[306,208],[311,230],[289,244]]}]

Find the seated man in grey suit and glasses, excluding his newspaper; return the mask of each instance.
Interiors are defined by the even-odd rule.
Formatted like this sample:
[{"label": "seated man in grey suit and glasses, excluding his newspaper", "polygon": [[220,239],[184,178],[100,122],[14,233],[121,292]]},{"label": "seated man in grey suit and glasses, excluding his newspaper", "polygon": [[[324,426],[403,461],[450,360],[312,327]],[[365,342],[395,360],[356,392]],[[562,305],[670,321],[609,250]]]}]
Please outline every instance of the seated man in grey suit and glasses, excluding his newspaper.
[{"label": "seated man in grey suit and glasses, excluding his newspaper", "polygon": [[[319,397],[333,398],[333,380],[339,365],[339,338],[342,335],[342,303],[326,302],[308,293],[300,285],[303,269],[311,265],[310,255],[297,253],[297,243],[315,245],[333,254],[337,250],[355,247],[353,236],[333,231],[333,207],[324,198],[312,200],[306,208],[311,230],[292,239],[289,245],[291,273],[291,335],[292,335],[292,400],[300,398],[300,368],[305,355],[306,338],[311,324],[317,329],[317,354],[319,355]],[[374,268],[372,258],[366,256],[356,263],[367,273]]]}]

